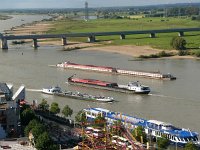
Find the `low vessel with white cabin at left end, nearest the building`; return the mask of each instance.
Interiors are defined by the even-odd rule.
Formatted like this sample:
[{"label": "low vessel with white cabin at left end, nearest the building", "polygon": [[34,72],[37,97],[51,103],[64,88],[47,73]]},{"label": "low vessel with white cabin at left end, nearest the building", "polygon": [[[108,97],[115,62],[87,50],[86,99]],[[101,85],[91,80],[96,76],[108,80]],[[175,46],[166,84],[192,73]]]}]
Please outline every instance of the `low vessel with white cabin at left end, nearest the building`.
[{"label": "low vessel with white cabin at left end, nearest the building", "polygon": [[95,96],[89,95],[86,93],[80,92],[72,92],[72,91],[65,91],[63,92],[60,87],[50,87],[50,88],[43,88],[42,93],[62,96],[62,97],[69,97],[74,99],[86,100],[86,101],[98,101],[98,102],[112,102],[114,101],[113,97],[105,97],[105,96]]}]

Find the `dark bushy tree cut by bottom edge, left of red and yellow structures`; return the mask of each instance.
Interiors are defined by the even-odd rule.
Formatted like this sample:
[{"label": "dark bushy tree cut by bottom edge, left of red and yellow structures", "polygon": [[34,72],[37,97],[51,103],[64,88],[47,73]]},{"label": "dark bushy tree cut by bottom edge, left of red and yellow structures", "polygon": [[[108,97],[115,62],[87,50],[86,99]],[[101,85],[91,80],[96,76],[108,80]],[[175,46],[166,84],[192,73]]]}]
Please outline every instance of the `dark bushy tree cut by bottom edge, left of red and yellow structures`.
[{"label": "dark bushy tree cut by bottom edge, left of red and yellow structures", "polygon": [[53,144],[47,132],[42,133],[36,140],[35,147],[37,150],[59,150],[59,146]]}]

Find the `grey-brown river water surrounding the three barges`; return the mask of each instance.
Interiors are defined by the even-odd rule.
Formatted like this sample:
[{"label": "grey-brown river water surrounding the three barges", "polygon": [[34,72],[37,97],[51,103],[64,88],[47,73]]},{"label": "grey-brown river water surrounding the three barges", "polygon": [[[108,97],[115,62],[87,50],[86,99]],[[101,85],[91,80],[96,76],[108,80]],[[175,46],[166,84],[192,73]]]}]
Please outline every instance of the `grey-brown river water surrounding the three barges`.
[{"label": "grey-brown river water surrounding the three barges", "polygon": [[[30,19],[30,16],[28,19]],[[7,21],[1,21],[0,25],[3,22],[6,27]],[[15,25],[15,22],[13,22],[12,26]],[[130,70],[159,70],[172,73],[177,77],[177,80],[161,81],[132,76],[65,70],[48,66],[63,61],[113,66]],[[27,100],[30,102],[37,99],[39,103],[41,99],[45,98],[49,103],[58,102],[61,108],[68,104],[75,113],[87,107],[103,107],[141,118],[169,122],[175,126],[189,128],[200,133],[200,61],[198,60],[155,59],[133,61],[130,56],[102,51],[63,51],[62,46],[41,46],[38,50],[34,50],[31,45],[9,45],[8,51],[0,51],[0,72],[1,82],[13,83],[14,86],[24,84],[28,89]],[[139,80],[141,83],[150,86],[152,92],[150,95],[134,95],[66,84],[67,77],[73,74],[81,78],[94,78],[120,84]],[[113,96],[117,102],[109,104],[86,102],[45,95],[37,91],[52,85],[59,85],[66,90]]]}]

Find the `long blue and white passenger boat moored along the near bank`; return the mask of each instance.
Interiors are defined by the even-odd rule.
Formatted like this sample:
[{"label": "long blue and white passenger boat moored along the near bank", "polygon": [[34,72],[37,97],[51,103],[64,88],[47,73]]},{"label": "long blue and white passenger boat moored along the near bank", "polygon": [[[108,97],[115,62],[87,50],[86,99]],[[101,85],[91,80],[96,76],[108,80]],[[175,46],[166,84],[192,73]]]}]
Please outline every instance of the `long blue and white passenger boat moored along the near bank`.
[{"label": "long blue and white passenger boat moored along the near bank", "polygon": [[86,108],[84,111],[89,121],[92,121],[101,114],[107,120],[108,125],[120,120],[123,125],[130,130],[142,126],[147,135],[153,136],[154,138],[165,135],[172,144],[178,146],[184,146],[188,142],[200,145],[198,141],[199,134],[197,132],[192,132],[189,129],[177,128],[169,123],[157,120],[146,120],[103,108]]}]

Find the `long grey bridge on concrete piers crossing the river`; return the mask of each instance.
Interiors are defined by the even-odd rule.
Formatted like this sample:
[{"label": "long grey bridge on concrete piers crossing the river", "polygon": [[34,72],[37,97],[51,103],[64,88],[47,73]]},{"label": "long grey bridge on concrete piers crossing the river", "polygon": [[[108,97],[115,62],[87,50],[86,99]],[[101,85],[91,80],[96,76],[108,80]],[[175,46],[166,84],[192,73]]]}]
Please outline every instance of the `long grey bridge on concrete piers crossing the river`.
[{"label": "long grey bridge on concrete piers crossing the river", "polygon": [[39,35],[3,35],[0,33],[1,49],[8,49],[8,40],[32,39],[33,47],[38,47],[38,39],[61,38],[62,45],[67,45],[69,37],[87,37],[88,42],[95,42],[96,36],[119,35],[120,39],[125,39],[126,35],[133,34],[149,34],[150,38],[155,38],[157,33],[173,33],[177,32],[178,36],[184,36],[184,32],[200,31],[200,28],[174,28],[160,30],[138,30],[138,31],[117,31],[117,32],[88,32],[88,33],[67,33],[67,34],[39,34]]}]

